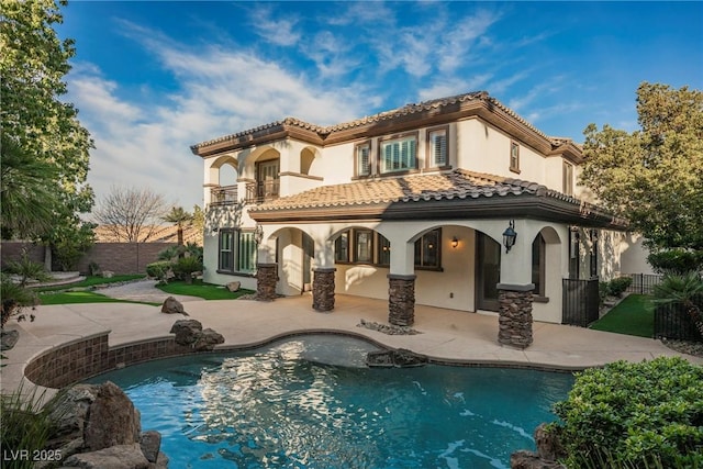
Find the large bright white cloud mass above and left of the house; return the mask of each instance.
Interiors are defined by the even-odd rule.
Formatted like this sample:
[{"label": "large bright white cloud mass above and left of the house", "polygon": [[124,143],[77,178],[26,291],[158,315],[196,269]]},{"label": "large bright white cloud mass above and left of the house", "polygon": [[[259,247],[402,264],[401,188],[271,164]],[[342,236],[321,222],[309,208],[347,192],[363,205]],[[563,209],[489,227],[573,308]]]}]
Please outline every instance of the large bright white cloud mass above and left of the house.
[{"label": "large bright white cloud mass above and left of the house", "polygon": [[378,97],[362,86],[315,87],[295,70],[242,48],[189,48],[138,26],[130,34],[171,74],[178,89],[158,100],[130,93],[92,65],[69,75],[69,100],[91,133],[89,183],[148,188],[191,209],[202,201],[202,160],[190,145],[294,115],[331,124],[364,115]]}]

